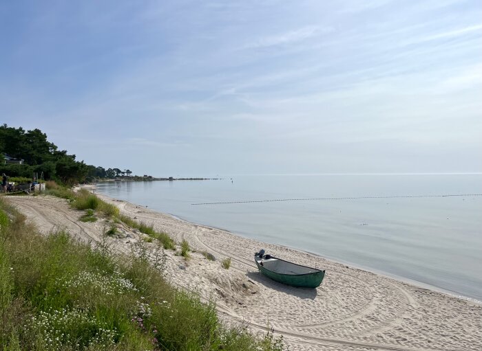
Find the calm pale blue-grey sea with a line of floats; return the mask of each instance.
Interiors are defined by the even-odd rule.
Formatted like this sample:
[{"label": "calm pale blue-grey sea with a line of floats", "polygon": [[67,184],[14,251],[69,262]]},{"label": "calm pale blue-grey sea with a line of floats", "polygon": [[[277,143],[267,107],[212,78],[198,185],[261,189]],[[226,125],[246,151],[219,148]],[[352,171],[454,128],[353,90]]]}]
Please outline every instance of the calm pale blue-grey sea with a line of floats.
[{"label": "calm pale blue-grey sea with a line of floats", "polygon": [[218,178],[105,182],[97,189],[193,223],[482,301],[482,196],[474,195],[482,194],[482,174]]}]

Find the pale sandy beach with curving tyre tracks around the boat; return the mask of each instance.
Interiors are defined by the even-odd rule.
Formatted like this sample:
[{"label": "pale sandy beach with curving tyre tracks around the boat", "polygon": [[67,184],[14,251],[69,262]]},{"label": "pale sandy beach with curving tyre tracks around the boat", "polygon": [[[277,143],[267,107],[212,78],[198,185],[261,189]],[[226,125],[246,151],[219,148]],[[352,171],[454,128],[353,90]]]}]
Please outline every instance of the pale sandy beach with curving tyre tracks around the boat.
[{"label": "pale sandy beach with curving tyre tracks around the boat", "polygon": [[[189,260],[165,251],[165,275],[172,284],[216,301],[220,317],[228,322],[249,324],[255,332],[274,328],[290,350],[482,350],[481,304],[98,196],[176,242],[189,242],[195,250]],[[109,227],[105,220],[80,222],[81,212],[63,199],[9,196],[9,201],[43,233],[67,229],[88,242],[101,240]],[[142,236],[121,227],[108,240],[114,251],[131,253]],[[152,252],[157,247],[145,245]],[[253,262],[259,249],[326,269],[322,285],[294,288],[269,280]],[[216,261],[207,260],[203,251]],[[231,258],[230,269],[222,268],[224,258]]]}]

